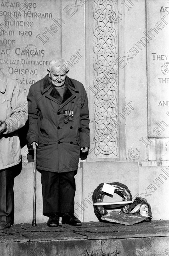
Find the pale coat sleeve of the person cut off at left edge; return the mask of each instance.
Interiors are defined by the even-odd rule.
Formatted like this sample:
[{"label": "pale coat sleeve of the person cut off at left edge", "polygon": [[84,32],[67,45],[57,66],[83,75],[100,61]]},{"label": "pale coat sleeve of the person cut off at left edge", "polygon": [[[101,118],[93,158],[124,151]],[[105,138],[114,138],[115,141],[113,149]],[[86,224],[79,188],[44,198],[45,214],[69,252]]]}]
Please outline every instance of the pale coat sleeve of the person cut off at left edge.
[{"label": "pale coat sleeve of the person cut off at left edge", "polygon": [[[15,82],[14,82],[15,83]],[[4,134],[15,132],[23,127],[28,119],[28,104],[20,84],[14,85],[11,99],[11,116],[5,119],[7,130]]]}]

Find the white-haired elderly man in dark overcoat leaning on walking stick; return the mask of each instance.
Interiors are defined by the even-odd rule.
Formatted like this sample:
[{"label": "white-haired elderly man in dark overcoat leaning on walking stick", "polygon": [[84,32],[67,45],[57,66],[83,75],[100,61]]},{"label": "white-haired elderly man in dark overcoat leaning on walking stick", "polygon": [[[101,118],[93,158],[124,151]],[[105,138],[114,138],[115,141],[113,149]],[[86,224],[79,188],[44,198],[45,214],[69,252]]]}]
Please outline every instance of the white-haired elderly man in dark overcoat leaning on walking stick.
[{"label": "white-haired elderly man in dark overcoat leaning on walking stick", "polygon": [[64,59],[54,58],[48,74],[28,94],[28,147],[37,147],[42,174],[43,215],[47,226],[80,226],[74,216],[75,179],[79,155],[89,148],[88,99],[83,85],[67,76]]}]

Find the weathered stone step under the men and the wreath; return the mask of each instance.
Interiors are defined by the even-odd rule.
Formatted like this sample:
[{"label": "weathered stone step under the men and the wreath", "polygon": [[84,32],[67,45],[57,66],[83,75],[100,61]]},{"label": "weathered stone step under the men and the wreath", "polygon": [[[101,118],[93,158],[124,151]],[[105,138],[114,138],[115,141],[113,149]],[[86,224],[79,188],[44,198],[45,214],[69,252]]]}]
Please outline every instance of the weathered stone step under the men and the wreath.
[{"label": "weathered stone step under the men and the wreath", "polygon": [[[119,256],[169,255],[169,221],[133,226],[83,222],[82,226],[15,224],[0,232],[0,255],[78,256],[119,252]],[[98,253],[98,254],[97,254]],[[113,255],[113,254],[112,254]]]}]

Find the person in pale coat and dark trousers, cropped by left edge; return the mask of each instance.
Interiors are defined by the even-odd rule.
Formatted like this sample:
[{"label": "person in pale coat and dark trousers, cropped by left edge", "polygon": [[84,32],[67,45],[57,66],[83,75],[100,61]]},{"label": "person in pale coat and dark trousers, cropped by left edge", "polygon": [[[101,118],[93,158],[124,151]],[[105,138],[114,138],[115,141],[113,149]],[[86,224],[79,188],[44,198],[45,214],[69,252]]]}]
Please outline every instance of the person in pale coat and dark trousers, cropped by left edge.
[{"label": "person in pale coat and dark trousers, cropped by left edge", "polygon": [[27,105],[21,86],[0,70],[0,229],[13,224],[14,177],[22,169],[17,130],[28,119]]}]

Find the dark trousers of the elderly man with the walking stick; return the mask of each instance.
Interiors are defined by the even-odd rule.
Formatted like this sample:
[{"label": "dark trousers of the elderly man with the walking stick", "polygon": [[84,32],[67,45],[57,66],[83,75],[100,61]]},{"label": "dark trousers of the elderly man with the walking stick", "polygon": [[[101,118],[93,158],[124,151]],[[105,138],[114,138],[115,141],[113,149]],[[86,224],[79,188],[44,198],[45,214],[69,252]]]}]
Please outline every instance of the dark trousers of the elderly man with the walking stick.
[{"label": "dark trousers of the elderly man with the walking stick", "polygon": [[42,173],[43,215],[50,213],[74,212],[74,195],[76,190],[73,172],[47,172]]}]

